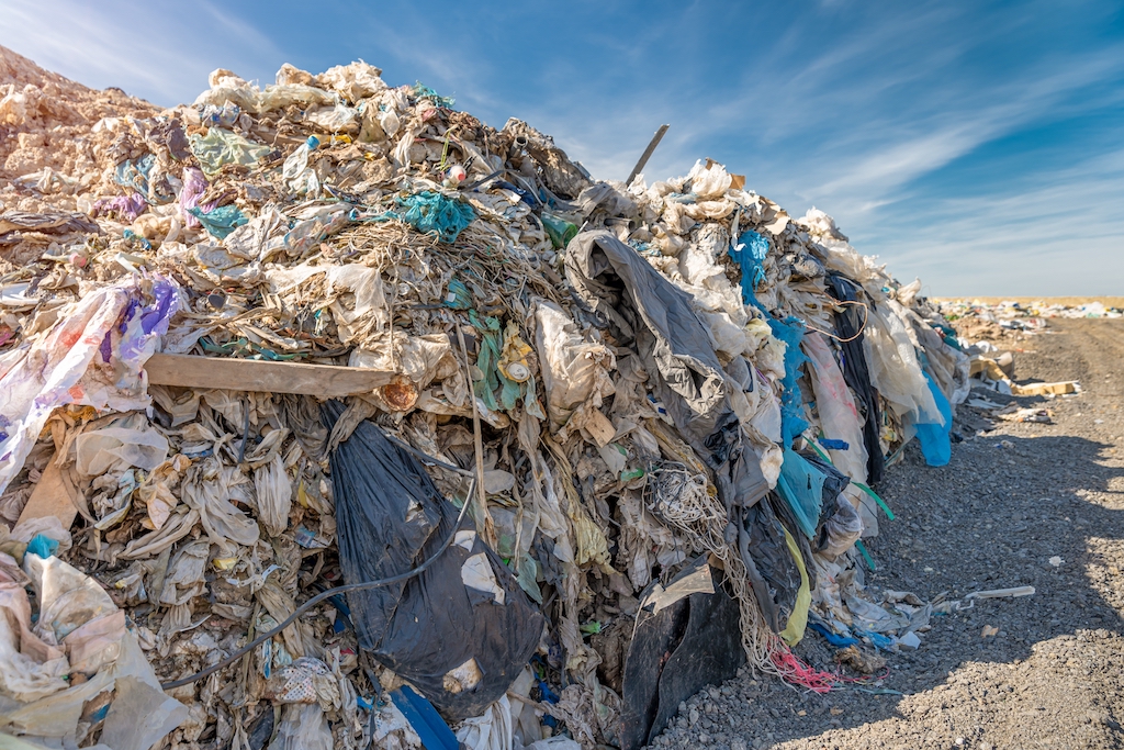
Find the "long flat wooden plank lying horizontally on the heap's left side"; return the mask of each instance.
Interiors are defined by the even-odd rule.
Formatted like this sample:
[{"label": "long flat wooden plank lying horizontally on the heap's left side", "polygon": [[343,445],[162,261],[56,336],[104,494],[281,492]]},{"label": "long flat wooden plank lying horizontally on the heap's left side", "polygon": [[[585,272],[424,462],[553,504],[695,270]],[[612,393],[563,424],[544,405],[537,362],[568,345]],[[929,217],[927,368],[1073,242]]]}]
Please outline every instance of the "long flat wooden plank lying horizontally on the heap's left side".
[{"label": "long flat wooden plank lying horizontally on the heap's left side", "polygon": [[232,360],[192,354],[153,354],[144,365],[148,382],[182,388],[220,388],[321,398],[370,394],[392,372],[329,364]]}]

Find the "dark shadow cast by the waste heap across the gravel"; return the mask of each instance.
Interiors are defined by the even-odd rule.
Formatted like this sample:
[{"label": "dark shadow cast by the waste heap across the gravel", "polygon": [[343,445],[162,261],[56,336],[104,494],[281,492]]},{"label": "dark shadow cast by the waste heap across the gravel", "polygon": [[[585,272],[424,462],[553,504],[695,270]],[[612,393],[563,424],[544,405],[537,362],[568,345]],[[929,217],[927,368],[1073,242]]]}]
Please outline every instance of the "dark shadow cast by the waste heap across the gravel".
[{"label": "dark shadow cast by the waste heap across the gravel", "polygon": [[[905,466],[889,471],[881,487],[896,521],[883,521],[868,543],[879,563],[868,585],[926,599],[1014,586],[1034,586],[1035,595],[979,600],[967,612],[935,616],[922,648],[890,654],[889,676],[870,687],[900,695],[855,695],[852,688],[796,696],[779,680],[759,679],[750,710],[774,719],[806,712],[798,726],[776,722],[772,737],[759,744],[899,715],[904,696],[943,684],[967,662],[1018,663],[1036,643],[1060,635],[1121,633],[1124,605],[1105,600],[1087,575],[1090,566],[1106,564],[1096,549],[1100,540],[1124,540],[1124,509],[1097,501],[1124,507],[1124,493],[1113,489],[1124,468],[1105,466],[1109,448],[1075,436],[986,435],[959,445],[943,468],[925,466],[919,450],[908,449]],[[1058,567],[1050,562],[1054,557],[1062,560]],[[999,632],[981,638],[985,626]],[[797,652],[817,667],[833,667],[832,650],[815,634]],[[841,703],[847,710],[833,714]]]}]

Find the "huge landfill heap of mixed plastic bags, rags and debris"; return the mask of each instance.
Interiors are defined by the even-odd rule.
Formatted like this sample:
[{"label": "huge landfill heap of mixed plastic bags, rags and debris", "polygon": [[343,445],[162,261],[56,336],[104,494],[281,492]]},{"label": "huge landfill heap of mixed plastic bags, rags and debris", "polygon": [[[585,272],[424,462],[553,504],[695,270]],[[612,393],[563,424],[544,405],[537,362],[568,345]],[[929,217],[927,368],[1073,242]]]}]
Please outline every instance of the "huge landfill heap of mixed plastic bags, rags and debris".
[{"label": "huge landfill heap of mixed plastic bags, rags and debris", "polygon": [[161,109],[0,52],[0,731],[629,749],[854,679],[809,630],[924,648],[861,540],[969,359],[830,216],[363,62]]}]

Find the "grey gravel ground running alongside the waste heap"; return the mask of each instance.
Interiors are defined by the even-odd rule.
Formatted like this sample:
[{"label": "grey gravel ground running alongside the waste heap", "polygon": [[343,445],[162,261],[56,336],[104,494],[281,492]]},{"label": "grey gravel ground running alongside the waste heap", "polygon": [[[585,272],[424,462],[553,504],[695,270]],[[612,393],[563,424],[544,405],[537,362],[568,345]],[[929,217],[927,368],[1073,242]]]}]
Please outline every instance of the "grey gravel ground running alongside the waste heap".
[{"label": "grey gravel ground running alongside the waste heap", "polygon": [[[868,544],[874,587],[1036,594],[934,616],[918,651],[889,654],[873,689],[894,693],[814,695],[743,674],[681,705],[656,748],[1124,747],[1124,320],[1050,324],[1016,353],[1016,380],[1080,380],[1084,392],[1014,399],[1054,424],[987,433],[961,407],[948,467],[910,446],[890,469],[880,491],[897,519]],[[833,666],[813,633],[796,651]]]}]

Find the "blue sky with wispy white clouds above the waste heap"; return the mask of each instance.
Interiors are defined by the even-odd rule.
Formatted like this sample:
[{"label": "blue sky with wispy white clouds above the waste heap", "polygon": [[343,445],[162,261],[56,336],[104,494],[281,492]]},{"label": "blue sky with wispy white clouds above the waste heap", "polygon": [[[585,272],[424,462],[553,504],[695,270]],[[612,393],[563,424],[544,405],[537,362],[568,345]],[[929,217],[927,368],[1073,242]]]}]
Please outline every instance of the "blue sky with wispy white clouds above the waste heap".
[{"label": "blue sky with wispy white clouds above the waste heap", "polygon": [[596,178],[698,159],[933,296],[1124,295],[1124,3],[0,0],[0,45],[93,88],[194,100],[364,60]]}]

